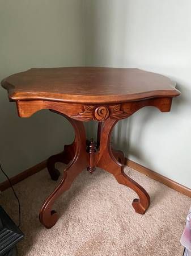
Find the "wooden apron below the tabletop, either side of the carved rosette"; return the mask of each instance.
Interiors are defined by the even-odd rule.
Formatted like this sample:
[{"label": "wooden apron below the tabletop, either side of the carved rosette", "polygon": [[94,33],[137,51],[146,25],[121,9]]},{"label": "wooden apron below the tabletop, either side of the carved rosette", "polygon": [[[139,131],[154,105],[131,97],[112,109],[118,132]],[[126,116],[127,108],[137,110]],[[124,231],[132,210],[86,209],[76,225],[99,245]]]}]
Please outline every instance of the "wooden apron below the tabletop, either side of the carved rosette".
[{"label": "wooden apron below the tabletop, either side of the carved rosette", "polygon": [[[111,117],[119,120],[129,117],[131,114],[145,106],[155,106],[155,108],[158,108],[161,112],[169,112],[171,110],[171,104],[172,98],[149,98],[146,100],[131,101],[120,104],[120,113],[113,113],[114,106],[116,105],[94,105],[94,109],[92,109],[91,113],[87,113],[86,118],[79,118],[80,113],[84,111],[84,105],[82,104],[41,100],[16,101],[19,117],[31,117],[31,115],[35,114],[39,110],[50,109],[79,121],[95,120],[95,109],[98,107],[102,108],[103,106],[109,109],[109,115],[107,118]],[[103,121],[107,118],[104,118]]]}]

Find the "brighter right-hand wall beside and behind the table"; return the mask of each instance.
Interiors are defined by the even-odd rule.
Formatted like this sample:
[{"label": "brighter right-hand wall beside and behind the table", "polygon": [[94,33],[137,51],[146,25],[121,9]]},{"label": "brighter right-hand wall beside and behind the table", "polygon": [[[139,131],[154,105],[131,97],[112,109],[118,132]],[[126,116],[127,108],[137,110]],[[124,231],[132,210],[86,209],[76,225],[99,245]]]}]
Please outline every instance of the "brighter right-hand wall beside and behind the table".
[{"label": "brighter right-hand wall beside and behind the table", "polygon": [[191,187],[191,1],[84,2],[86,65],[161,73],[182,93],[170,113],[143,108],[120,121],[114,143],[131,160]]}]

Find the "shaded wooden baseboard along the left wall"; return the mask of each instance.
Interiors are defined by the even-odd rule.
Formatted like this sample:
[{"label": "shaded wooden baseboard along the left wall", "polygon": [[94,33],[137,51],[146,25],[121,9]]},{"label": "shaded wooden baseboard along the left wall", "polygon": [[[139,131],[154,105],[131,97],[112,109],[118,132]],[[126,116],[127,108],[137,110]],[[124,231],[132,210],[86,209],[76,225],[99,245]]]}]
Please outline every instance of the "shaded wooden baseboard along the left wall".
[{"label": "shaded wooden baseboard along the left wall", "polygon": [[[19,183],[20,181],[27,179],[27,177],[36,174],[37,172],[40,172],[41,170],[43,170],[44,168],[46,168],[46,162],[47,160],[36,164],[36,166],[33,166],[29,169],[27,169],[26,171],[20,172],[20,174],[11,177],[11,184],[14,185],[16,183]],[[10,183],[8,180],[0,183],[0,191],[4,191],[5,189],[10,188]]]}]

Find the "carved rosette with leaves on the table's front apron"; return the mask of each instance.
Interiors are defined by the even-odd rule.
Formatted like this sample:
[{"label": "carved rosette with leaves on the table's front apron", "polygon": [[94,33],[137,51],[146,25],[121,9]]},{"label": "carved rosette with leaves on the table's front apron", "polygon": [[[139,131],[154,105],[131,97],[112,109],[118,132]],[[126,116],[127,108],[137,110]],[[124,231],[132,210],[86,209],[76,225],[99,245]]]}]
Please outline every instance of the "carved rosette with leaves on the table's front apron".
[{"label": "carved rosette with leaves on the table's front apron", "polygon": [[90,121],[95,120],[98,122],[103,122],[107,118],[112,119],[124,119],[129,117],[129,114],[121,110],[121,105],[113,106],[83,106],[84,111],[78,115],[72,115],[71,118],[77,119],[79,121]]}]

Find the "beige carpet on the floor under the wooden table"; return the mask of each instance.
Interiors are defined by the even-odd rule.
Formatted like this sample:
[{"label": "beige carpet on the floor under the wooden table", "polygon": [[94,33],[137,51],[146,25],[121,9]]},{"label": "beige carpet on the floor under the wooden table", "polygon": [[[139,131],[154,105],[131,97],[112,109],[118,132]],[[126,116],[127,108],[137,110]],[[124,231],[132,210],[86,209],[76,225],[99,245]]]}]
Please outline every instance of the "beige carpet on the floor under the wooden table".
[{"label": "beige carpet on the floor under the wooden table", "polygon": [[[191,199],[130,168],[126,173],[151,196],[145,215],[131,207],[136,196],[133,191],[97,169],[93,175],[82,172],[57,201],[54,209],[60,219],[52,229],[40,224],[38,213],[57,182],[43,170],[15,185],[25,234],[18,245],[19,256],[178,256]],[[18,208],[11,190],[3,192],[0,199],[17,221]]]}]

